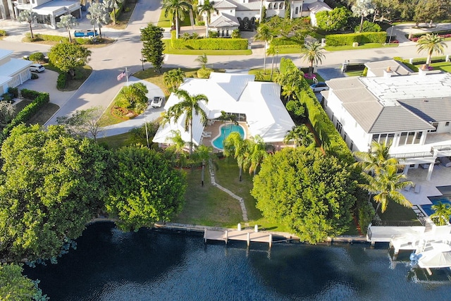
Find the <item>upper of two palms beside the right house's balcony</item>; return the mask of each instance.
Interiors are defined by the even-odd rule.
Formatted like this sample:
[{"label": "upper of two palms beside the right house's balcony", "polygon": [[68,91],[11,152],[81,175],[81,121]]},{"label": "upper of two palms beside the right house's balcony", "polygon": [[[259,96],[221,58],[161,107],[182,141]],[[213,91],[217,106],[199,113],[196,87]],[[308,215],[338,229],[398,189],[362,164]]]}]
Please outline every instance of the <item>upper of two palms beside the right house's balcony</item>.
[{"label": "upper of two palms beside the right house's balcony", "polygon": [[399,162],[396,158],[390,156],[391,144],[386,142],[378,143],[376,141],[371,142],[371,149],[369,152],[354,152],[354,156],[360,161],[354,163],[354,167],[362,168],[364,173],[373,173],[378,175],[387,166],[393,165],[399,167]]}]

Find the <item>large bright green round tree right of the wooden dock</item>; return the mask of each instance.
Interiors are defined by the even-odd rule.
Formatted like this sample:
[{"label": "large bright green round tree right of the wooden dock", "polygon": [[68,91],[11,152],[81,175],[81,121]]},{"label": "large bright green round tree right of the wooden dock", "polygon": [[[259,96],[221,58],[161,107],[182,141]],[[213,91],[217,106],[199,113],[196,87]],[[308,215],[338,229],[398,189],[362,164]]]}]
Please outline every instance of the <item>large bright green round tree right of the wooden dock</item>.
[{"label": "large bright green round tree right of the wooden dock", "polygon": [[317,150],[285,148],[261,164],[251,193],[266,218],[302,241],[321,242],[343,233],[352,218],[357,183],[348,169]]}]

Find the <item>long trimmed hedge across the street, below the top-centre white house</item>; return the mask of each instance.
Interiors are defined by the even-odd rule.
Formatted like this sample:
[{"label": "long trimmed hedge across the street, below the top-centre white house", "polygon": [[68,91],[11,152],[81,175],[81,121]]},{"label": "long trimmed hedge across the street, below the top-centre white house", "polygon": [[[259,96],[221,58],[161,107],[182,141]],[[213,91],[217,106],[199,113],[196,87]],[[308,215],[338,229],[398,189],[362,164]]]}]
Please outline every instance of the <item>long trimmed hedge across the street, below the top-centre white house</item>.
[{"label": "long trimmed hedge across the street, below the top-centre white house", "polygon": [[171,44],[174,49],[203,50],[243,50],[247,49],[247,39],[175,39],[173,31]]}]

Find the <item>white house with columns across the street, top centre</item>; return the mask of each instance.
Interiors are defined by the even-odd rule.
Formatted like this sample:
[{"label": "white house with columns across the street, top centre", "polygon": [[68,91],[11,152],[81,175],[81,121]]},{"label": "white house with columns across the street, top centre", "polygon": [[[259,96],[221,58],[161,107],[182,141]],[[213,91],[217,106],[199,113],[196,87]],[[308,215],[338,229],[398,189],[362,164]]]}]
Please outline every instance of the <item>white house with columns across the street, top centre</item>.
[{"label": "white house with columns across the street, top centre", "polygon": [[[199,6],[204,0],[199,0]],[[218,13],[211,15],[209,27],[217,31],[219,37],[230,37],[233,30],[253,30],[255,21],[260,20],[262,9],[266,8],[266,17],[285,17],[285,1],[280,0],[219,0],[214,8]],[[311,25],[316,25],[315,15],[319,11],[330,11],[323,0],[290,1],[290,18],[309,16]],[[206,21],[206,16],[204,16]]]}]

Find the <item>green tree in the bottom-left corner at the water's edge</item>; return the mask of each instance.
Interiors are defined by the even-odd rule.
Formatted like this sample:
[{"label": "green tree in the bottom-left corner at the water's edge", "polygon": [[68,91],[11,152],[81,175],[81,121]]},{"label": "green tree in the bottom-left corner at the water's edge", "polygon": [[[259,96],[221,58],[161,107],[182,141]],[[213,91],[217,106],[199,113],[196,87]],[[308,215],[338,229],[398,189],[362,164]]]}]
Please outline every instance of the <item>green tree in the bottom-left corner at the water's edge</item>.
[{"label": "green tree in the bottom-left corner at the water's edge", "polygon": [[37,285],[22,275],[22,271],[17,264],[0,264],[0,300],[47,300]]}]

